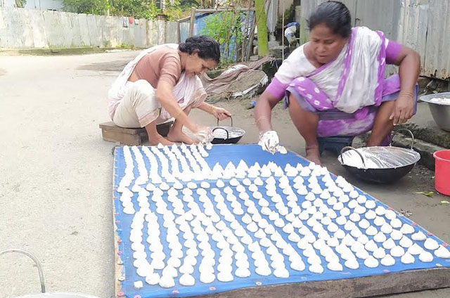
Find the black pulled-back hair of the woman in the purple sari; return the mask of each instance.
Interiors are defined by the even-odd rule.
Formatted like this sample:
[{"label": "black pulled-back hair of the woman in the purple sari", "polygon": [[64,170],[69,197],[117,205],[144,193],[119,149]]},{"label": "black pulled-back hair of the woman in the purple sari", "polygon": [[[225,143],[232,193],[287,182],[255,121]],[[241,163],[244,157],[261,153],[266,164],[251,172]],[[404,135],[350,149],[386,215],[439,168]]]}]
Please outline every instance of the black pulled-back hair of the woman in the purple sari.
[{"label": "black pulled-back hair of the woman in the purple sari", "polygon": [[334,34],[347,38],[352,33],[352,18],[347,6],[339,1],[326,1],[309,15],[308,27],[325,24]]}]

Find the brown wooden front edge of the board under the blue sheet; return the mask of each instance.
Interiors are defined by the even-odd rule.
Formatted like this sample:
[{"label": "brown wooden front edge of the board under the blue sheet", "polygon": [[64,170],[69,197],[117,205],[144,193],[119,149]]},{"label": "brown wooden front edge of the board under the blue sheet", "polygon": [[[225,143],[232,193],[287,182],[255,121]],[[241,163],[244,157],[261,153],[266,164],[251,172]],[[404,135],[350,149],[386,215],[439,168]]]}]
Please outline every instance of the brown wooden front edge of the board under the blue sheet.
[{"label": "brown wooden front edge of the board under the blue sheet", "polygon": [[370,297],[450,287],[450,268],[433,268],[379,276],[247,287],[198,298]]}]

